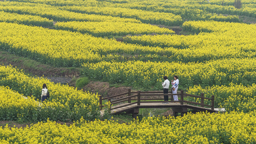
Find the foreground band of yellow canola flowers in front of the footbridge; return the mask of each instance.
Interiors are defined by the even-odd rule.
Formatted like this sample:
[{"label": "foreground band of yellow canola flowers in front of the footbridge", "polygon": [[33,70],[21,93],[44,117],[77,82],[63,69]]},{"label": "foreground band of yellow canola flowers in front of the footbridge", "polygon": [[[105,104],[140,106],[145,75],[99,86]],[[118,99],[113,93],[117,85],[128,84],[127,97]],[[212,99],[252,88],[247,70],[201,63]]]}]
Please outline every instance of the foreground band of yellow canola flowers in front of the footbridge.
[{"label": "foreground band of yellow canola flowers in front of the footbridge", "polygon": [[47,144],[249,144],[256,142],[256,112],[197,113],[148,117],[129,124],[114,120],[75,122],[70,126],[38,122],[31,127],[0,128],[0,142]]}]

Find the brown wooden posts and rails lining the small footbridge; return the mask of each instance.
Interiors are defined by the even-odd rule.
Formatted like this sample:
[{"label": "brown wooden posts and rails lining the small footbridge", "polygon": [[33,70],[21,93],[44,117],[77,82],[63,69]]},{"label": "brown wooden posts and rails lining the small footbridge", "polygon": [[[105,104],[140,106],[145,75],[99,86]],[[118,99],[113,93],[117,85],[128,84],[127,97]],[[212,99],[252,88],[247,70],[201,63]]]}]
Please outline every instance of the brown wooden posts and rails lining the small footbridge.
[{"label": "brown wooden posts and rails lining the small footbridge", "polygon": [[[117,100],[113,100],[111,102],[111,98],[126,95],[126,94],[128,94],[128,96],[126,96],[124,98],[119,98]],[[134,95],[131,96],[131,94],[134,94]],[[128,106],[131,103],[132,104],[137,103],[137,105],[140,106],[140,103],[147,102],[147,101],[142,101],[142,100],[162,100],[162,99],[158,99],[158,98],[151,98],[151,99],[150,98],[140,98],[140,96],[164,96],[164,95],[168,95],[168,96],[180,95],[180,100],[175,101],[175,102],[180,102],[180,105],[183,105],[184,102],[185,102],[185,103],[190,103],[190,104],[197,104],[197,105],[200,105],[202,107],[207,106],[207,107],[210,107],[211,110],[214,110],[214,95],[212,95],[211,98],[206,98],[206,97],[204,97],[204,93],[201,93],[201,96],[195,96],[195,95],[192,95],[192,94],[186,94],[186,93],[184,93],[183,90],[181,90],[180,93],[177,93],[177,94],[163,94],[162,91],[131,92],[130,88],[128,89],[128,92],[125,92],[125,93],[122,93],[122,94],[117,94],[117,95],[114,95],[114,96],[109,96],[109,97],[106,97],[106,98],[102,98],[102,96],[99,95],[100,109],[102,109],[102,100],[106,100],[106,99],[108,99],[108,101],[111,102],[111,104],[118,104],[120,102],[128,101],[129,104],[126,104],[126,105],[123,105],[123,106],[118,106],[118,108],[119,108],[119,107]],[[136,96],[137,96],[137,99],[131,99],[131,98],[136,97]],[[184,100],[184,96],[191,96],[191,97],[194,97],[194,98],[201,98],[201,102],[199,103],[199,102],[191,102],[191,101]],[[204,104],[204,99],[211,100],[211,105]],[[136,102],[131,102],[131,100],[137,100],[137,101]],[[148,102],[158,102],[158,101],[148,101]],[[163,102],[163,101],[159,101],[159,102]],[[174,102],[174,101],[168,101],[168,102]],[[110,106],[110,109],[111,109],[111,106]]]}]

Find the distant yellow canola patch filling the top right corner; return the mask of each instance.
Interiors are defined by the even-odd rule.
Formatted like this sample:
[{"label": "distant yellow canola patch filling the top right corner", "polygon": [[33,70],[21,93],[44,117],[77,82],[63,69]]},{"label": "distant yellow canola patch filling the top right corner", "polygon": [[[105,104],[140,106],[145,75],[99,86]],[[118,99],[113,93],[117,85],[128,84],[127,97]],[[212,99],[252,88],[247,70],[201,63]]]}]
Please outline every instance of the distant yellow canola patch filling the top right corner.
[{"label": "distant yellow canola patch filling the top right corner", "polygon": [[242,8],[234,7],[234,0],[142,0],[113,4],[114,7],[170,12],[187,20],[214,20],[221,22],[240,22],[239,16],[255,17],[256,4],[252,0],[243,0]]}]

